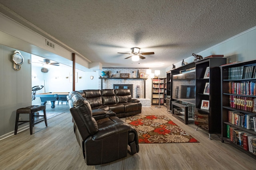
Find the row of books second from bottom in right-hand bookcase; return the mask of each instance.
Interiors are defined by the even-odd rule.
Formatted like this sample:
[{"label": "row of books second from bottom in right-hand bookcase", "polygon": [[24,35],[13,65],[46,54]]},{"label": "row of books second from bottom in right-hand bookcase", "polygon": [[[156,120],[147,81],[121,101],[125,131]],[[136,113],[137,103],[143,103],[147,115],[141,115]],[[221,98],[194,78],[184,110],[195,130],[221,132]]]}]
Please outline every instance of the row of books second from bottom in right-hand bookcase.
[{"label": "row of books second from bottom in right-hand bookcase", "polygon": [[228,111],[228,122],[233,125],[256,131],[256,115],[244,114],[239,111]]}]

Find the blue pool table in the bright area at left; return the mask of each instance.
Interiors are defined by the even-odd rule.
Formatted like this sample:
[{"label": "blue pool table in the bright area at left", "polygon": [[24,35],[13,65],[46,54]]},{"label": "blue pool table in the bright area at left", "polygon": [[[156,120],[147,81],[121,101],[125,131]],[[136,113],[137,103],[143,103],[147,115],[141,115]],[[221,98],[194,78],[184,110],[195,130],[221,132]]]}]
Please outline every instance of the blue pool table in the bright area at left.
[{"label": "blue pool table in the bright area at left", "polygon": [[67,101],[67,96],[68,92],[49,92],[35,95],[36,98],[41,99],[41,105],[46,105],[47,101],[51,101],[52,108],[55,107],[55,101]]}]

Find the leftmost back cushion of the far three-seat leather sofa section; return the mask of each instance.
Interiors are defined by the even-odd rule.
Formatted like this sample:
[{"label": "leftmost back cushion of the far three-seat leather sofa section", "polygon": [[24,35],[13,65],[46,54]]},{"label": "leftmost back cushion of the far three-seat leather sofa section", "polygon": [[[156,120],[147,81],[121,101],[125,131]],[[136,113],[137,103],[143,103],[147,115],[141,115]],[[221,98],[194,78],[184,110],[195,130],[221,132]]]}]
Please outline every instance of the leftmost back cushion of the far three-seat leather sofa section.
[{"label": "leftmost back cushion of the far three-seat leather sofa section", "polygon": [[102,99],[100,90],[83,90],[86,100],[89,102],[91,107],[102,106]]}]

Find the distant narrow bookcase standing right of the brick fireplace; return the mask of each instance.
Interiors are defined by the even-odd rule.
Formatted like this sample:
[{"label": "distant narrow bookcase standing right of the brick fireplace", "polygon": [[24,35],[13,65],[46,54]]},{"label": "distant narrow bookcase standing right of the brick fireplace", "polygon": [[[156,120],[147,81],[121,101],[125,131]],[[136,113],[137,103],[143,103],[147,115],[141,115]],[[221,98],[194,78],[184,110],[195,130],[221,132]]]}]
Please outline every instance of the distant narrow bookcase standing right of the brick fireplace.
[{"label": "distant narrow bookcase standing right of the brick fireplace", "polygon": [[152,105],[159,105],[159,99],[160,105],[166,103],[166,78],[152,78]]}]

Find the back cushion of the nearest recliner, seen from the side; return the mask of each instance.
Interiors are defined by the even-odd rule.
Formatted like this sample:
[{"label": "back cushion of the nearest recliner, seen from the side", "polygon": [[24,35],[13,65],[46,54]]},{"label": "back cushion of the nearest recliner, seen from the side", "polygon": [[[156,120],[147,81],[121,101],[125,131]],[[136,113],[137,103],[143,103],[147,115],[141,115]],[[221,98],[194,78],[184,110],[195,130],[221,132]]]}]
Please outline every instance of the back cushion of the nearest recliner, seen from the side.
[{"label": "back cushion of the nearest recliner, seen from the side", "polygon": [[78,130],[84,133],[85,136],[83,138],[98,132],[98,124],[92,117],[92,109],[87,100],[78,93],[72,96],[70,95],[70,97],[74,106],[70,109],[70,112],[76,122]]}]

